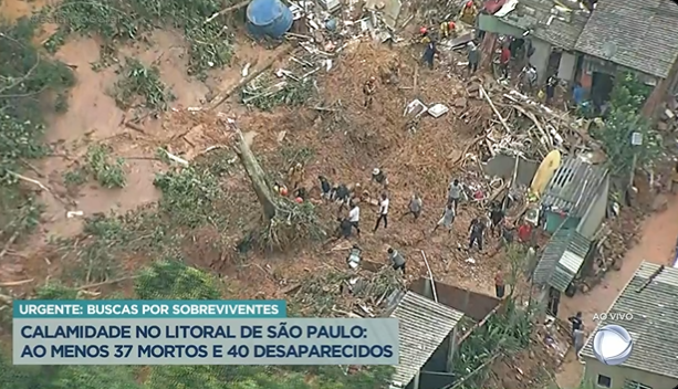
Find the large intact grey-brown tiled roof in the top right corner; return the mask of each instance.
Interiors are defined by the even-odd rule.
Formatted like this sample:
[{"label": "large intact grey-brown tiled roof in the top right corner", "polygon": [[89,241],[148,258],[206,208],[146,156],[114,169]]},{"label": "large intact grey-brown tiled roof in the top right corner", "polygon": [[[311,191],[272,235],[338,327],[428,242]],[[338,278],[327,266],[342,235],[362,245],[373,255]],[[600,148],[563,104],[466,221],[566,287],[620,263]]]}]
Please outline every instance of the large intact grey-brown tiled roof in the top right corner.
[{"label": "large intact grey-brown tiled roof in the top right corner", "polygon": [[678,4],[599,0],[575,50],[666,78],[678,57]]}]

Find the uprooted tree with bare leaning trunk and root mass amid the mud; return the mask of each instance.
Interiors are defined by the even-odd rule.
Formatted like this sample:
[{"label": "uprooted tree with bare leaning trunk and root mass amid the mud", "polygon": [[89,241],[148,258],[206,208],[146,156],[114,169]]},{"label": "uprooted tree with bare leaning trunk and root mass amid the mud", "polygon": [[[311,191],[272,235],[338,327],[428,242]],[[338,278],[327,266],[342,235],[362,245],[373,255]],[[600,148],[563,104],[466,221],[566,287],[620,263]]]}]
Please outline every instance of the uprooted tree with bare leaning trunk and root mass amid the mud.
[{"label": "uprooted tree with bare leaning trunk and root mass amid the mud", "polygon": [[307,240],[324,240],[326,232],[313,204],[307,201],[295,203],[271,189],[271,182],[251,149],[257,134],[243,134],[232,119],[227,120],[227,127],[236,133],[236,155],[250,178],[263,213],[263,229],[248,233],[243,240],[244,246],[255,245],[269,251],[286,250]]}]

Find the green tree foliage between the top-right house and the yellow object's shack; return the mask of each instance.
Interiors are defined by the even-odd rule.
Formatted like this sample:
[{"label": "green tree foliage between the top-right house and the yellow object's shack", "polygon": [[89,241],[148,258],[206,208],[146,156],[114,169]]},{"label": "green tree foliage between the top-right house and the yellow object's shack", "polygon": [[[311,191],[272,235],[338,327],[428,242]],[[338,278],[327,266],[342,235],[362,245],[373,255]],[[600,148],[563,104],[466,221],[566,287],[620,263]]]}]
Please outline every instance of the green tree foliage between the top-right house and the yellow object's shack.
[{"label": "green tree foliage between the top-right house and the yellow object's shack", "polygon": [[[637,167],[650,167],[661,153],[661,138],[639,114],[649,92],[649,87],[630,72],[617,76],[605,124],[591,132],[603,144],[613,176],[628,177],[634,155]],[[632,145],[634,133],[643,136],[643,145]]]}]

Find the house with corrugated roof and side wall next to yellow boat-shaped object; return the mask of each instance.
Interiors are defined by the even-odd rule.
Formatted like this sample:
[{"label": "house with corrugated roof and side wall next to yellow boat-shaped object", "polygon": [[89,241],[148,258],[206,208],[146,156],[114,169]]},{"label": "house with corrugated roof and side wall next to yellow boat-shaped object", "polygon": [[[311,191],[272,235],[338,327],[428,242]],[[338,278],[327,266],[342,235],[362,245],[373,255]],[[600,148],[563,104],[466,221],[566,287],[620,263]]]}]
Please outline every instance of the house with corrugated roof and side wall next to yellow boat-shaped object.
[{"label": "house with corrugated roof and side wall next to yellow boat-shaped object", "polygon": [[608,170],[577,158],[566,158],[546,185],[541,198],[545,230],[576,230],[592,239],[607,213]]}]

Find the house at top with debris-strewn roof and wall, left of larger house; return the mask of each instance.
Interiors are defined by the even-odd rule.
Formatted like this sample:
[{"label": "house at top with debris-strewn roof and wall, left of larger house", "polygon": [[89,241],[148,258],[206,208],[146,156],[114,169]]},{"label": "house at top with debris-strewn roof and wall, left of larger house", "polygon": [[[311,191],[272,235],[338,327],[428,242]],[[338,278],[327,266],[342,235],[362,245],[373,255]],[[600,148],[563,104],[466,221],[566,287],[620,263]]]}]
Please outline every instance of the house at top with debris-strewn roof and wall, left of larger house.
[{"label": "house at top with debris-strewn roof and wall, left of larger house", "polygon": [[483,31],[530,39],[534,53],[530,63],[540,82],[554,72],[559,78],[574,81],[577,54],[574,46],[590,13],[554,0],[509,0],[494,14],[481,15]]}]

